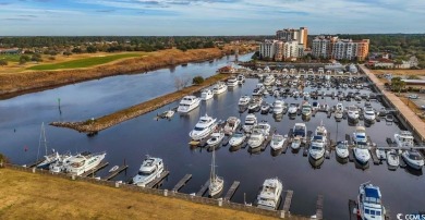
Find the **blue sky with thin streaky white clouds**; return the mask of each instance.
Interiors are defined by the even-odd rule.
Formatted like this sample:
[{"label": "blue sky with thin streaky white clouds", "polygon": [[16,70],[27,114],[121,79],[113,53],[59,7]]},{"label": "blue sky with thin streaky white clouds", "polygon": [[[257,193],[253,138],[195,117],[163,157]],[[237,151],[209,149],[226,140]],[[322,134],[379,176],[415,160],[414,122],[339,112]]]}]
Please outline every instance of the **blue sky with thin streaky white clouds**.
[{"label": "blue sky with thin streaky white clouds", "polygon": [[0,0],[0,36],[425,33],[425,0]]}]

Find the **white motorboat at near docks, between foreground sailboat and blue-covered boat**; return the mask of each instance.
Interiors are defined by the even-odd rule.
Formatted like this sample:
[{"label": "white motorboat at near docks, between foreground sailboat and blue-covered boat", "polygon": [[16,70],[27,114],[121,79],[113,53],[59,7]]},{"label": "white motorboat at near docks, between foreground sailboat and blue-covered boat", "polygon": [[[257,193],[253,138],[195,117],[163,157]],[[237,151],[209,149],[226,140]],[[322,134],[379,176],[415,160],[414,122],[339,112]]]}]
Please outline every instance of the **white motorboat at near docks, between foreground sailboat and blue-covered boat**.
[{"label": "white motorboat at near docks, between foreground sailboat and blue-covered boat", "polygon": [[276,210],[279,206],[282,191],[283,185],[279,179],[267,179],[264,181],[262,191],[257,196],[257,207],[262,209]]}]

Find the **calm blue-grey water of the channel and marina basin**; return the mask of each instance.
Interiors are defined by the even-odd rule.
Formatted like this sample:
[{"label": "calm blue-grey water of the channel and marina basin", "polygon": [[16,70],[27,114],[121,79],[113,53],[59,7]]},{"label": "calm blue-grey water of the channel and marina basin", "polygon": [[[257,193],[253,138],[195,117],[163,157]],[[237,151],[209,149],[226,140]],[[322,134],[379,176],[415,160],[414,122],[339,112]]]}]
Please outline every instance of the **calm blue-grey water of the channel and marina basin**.
[{"label": "calm blue-grey water of the channel and marina basin", "polygon": [[[223,64],[227,61],[219,62]],[[40,123],[59,119],[56,103],[58,96],[62,98],[62,118],[80,120],[92,115],[97,117],[146,100],[149,97],[146,93],[154,91],[141,77],[169,78],[168,88],[162,88],[163,94],[168,93],[167,89],[174,89],[172,86],[173,74],[197,73],[196,69],[198,69],[203,74],[208,75],[218,68],[214,65],[216,64],[212,63],[212,66],[209,63],[190,64],[185,69],[178,68],[174,73],[170,73],[169,70],[158,71],[157,76],[155,74],[116,76],[99,82],[87,82],[3,100],[0,102],[0,111],[2,112],[0,115],[0,135],[2,137],[0,151],[10,156],[16,163],[34,161],[37,157]],[[205,73],[207,71],[210,72]],[[154,82],[162,84],[161,80]],[[87,137],[66,129],[47,126],[48,145],[59,151],[106,150],[108,152],[106,160],[110,164],[121,164],[125,160],[130,168],[126,173],[120,174],[116,180],[127,180],[133,176],[145,155],[161,157],[171,172],[161,187],[172,188],[184,174],[192,173],[193,179],[181,192],[194,193],[208,179],[211,155],[206,149],[189,147],[189,132],[199,115],[205,114],[205,112],[222,120],[230,115],[236,115],[244,121],[246,112],[239,113],[238,100],[242,95],[251,95],[257,82],[257,80],[247,80],[242,87],[235,87],[233,90],[203,102],[189,115],[175,114],[171,121],[154,120],[157,112],[162,112],[178,105],[178,102],[173,102],[156,112],[144,114],[102,131],[95,137]],[[161,84],[155,85],[156,89],[160,90]],[[369,91],[362,90],[362,93]],[[161,93],[157,91],[156,95],[150,96],[159,95]],[[270,103],[272,100],[272,97],[267,98]],[[288,98],[286,101],[301,102],[302,99]],[[337,100],[331,100],[330,97],[319,98],[318,101],[328,105],[337,103]],[[351,102],[343,101],[343,103],[349,106]],[[363,106],[363,102],[360,105]],[[379,109],[381,106],[379,102],[373,102],[373,107]],[[256,113],[256,115],[259,120],[267,120],[272,127],[283,134],[288,133],[295,122],[302,122],[301,117],[290,120],[288,115],[284,115],[280,122],[276,122],[271,114]],[[325,113],[317,113],[315,118],[312,117],[306,122],[308,131],[314,131],[320,121],[324,121],[332,139],[344,139],[345,134],[354,132],[354,126],[350,126],[347,120],[337,123],[333,117],[327,119]],[[15,132],[14,129],[16,129]],[[396,124],[388,125],[384,121],[366,127],[367,134],[377,144],[385,144],[385,138],[392,137],[393,133],[399,130]],[[24,151],[25,146],[28,147],[28,151]],[[362,170],[357,169],[354,162],[341,164],[332,152],[331,158],[326,159],[317,168],[311,164],[307,157],[302,156],[302,151],[293,154],[288,150],[284,155],[274,157],[270,147],[259,154],[250,154],[247,148],[233,151],[228,146],[218,149],[216,163],[219,175],[223,176],[226,181],[223,193],[233,181],[241,181],[240,188],[232,199],[238,203],[243,203],[244,193],[246,193],[247,203],[254,201],[264,180],[278,176],[283,182],[284,191],[292,190],[294,192],[290,209],[293,213],[314,215],[317,195],[323,194],[325,218],[348,219],[348,199],[354,199],[359,185],[366,181],[372,181],[380,186],[384,204],[392,216],[398,212],[409,213],[423,210],[425,207],[425,198],[421,195],[425,185],[425,178],[422,173],[400,168],[397,171],[389,171],[386,163],[374,166],[371,162],[368,169]],[[98,172],[98,175],[106,175],[108,170],[109,168]]]}]

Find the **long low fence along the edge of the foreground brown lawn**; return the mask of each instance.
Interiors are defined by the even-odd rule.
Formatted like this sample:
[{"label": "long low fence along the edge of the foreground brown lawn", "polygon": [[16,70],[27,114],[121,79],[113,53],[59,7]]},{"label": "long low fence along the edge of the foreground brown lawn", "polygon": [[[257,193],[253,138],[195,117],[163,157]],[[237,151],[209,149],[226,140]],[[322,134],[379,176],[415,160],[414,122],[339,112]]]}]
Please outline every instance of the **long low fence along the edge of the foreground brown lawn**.
[{"label": "long low fence along the edge of the foreground brown lawn", "polygon": [[[147,188],[147,187],[141,187],[141,186],[136,186],[136,185],[123,184],[123,183],[119,183],[119,182],[114,182],[114,181],[98,180],[98,179],[93,179],[93,178],[83,178],[83,176],[71,175],[71,174],[65,174],[65,173],[52,173],[48,170],[27,168],[27,167],[11,164],[11,163],[0,163],[0,168],[8,168],[8,169],[13,169],[13,170],[19,170],[19,171],[24,171],[24,172],[29,172],[29,173],[37,173],[37,174],[41,174],[41,175],[58,176],[58,178],[68,179],[68,180],[71,179],[73,181],[88,182],[88,183],[94,183],[94,184],[105,185],[105,186],[110,186],[110,187],[119,187],[119,188],[122,188],[123,191],[130,191],[130,192],[135,192],[135,193],[146,193],[146,194],[153,194],[153,195],[174,197],[174,198],[189,200],[189,201],[196,203],[196,204],[219,206],[219,207],[224,207],[224,208],[229,208],[229,209],[233,209],[233,210],[246,211],[250,213],[256,213],[256,215],[263,215],[263,216],[269,216],[269,217],[276,217],[276,218],[284,218],[284,212],[280,211],[280,210],[276,211],[276,210],[259,209],[259,208],[253,207],[253,206],[246,206],[243,204],[231,203],[229,200],[223,200],[221,198],[218,198],[218,199],[207,198],[207,197],[189,195],[189,194],[183,194],[183,193],[168,191],[168,190]],[[307,219],[307,218],[305,218],[305,219]]]}]

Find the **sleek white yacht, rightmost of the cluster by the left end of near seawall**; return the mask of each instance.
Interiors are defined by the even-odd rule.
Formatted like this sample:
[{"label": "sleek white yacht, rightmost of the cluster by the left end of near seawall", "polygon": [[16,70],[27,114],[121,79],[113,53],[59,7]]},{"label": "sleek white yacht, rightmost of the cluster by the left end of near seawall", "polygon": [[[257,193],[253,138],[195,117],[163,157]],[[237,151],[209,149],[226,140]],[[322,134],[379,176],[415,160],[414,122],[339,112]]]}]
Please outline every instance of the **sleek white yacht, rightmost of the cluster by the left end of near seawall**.
[{"label": "sleek white yacht, rightmost of the cluster by the left end of near seawall", "polygon": [[68,173],[81,175],[96,168],[104,159],[106,152],[78,154],[68,159],[65,170]]}]

